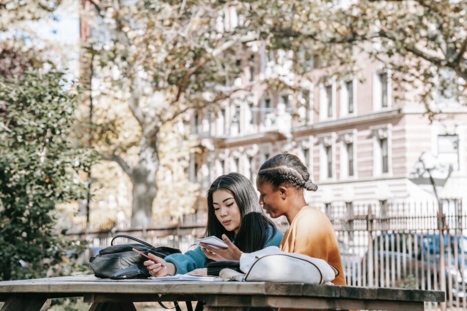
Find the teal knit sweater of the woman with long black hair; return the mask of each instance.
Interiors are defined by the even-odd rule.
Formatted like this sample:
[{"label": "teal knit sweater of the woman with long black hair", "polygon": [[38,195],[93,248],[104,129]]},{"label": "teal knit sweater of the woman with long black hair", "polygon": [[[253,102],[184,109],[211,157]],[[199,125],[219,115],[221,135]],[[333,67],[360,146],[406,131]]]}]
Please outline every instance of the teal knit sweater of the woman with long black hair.
[{"label": "teal knit sweater of the woman with long black hair", "polygon": [[[284,234],[277,229],[276,234],[271,238],[273,233],[272,227],[269,228],[268,240],[264,247],[279,246]],[[196,247],[194,250],[189,250],[184,254],[172,254],[164,258],[165,261],[171,262],[177,268],[177,274],[185,274],[198,268],[207,266],[207,257],[204,255],[201,247]]]}]

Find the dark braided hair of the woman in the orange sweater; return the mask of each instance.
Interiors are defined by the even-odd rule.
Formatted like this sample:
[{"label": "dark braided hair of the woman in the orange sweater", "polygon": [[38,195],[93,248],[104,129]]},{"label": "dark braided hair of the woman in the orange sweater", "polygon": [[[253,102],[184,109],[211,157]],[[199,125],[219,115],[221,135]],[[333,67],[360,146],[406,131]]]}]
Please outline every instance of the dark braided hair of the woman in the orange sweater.
[{"label": "dark braided hair of the woman in the orange sweater", "polygon": [[258,172],[258,178],[271,183],[274,187],[288,184],[296,189],[318,190],[313,184],[305,165],[291,153],[279,153],[267,160]]}]

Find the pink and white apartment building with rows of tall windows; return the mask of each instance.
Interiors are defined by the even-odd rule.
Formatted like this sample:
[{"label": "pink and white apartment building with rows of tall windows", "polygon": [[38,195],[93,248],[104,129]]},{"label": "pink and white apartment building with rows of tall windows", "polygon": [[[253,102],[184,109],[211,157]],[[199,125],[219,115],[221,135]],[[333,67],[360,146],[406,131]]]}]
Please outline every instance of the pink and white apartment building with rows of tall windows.
[{"label": "pink and white apartment building with rows of tall windows", "polygon": [[[414,177],[423,152],[436,167],[452,167],[446,180],[432,177],[441,198],[465,196],[467,189],[467,109],[439,99],[442,113],[432,123],[416,95],[397,100],[391,71],[362,59],[364,79],[320,79],[311,70],[301,91],[277,92],[265,80],[287,71],[291,57],[264,49],[239,59],[242,75],[234,82],[252,91],[232,98],[214,112],[195,111],[192,131],[204,151],[193,154],[190,179],[207,189],[219,175],[239,172],[254,184],[261,164],[291,152],[306,164],[315,193],[310,204],[384,203],[433,199],[428,176]],[[292,78],[293,79],[293,78]],[[414,92],[416,94],[416,92]],[[399,94],[401,95],[401,94]],[[400,96],[399,96],[400,97]],[[446,171],[446,170],[445,170]]]}]

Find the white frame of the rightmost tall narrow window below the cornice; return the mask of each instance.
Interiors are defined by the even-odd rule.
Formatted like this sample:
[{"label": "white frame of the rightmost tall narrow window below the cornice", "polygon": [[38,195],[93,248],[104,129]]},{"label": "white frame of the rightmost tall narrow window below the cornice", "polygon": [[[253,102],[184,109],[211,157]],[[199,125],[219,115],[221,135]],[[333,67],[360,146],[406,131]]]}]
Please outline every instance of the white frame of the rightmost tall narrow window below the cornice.
[{"label": "white frame of the rightmost tall narrow window below the cornice", "polygon": [[[370,130],[373,133],[373,176],[392,176],[392,124],[381,124],[378,126],[371,126]],[[388,139],[388,172],[383,173],[382,153],[380,140],[382,138]]]}]

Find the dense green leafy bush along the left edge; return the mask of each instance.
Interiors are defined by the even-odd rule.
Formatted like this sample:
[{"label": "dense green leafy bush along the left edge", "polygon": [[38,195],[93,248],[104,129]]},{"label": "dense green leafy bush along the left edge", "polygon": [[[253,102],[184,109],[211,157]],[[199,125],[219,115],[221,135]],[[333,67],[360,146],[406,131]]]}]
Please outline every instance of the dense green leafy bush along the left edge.
[{"label": "dense green leafy bush along the left edge", "polygon": [[84,197],[78,172],[93,159],[68,135],[77,100],[59,72],[0,79],[0,280],[66,273],[65,251],[84,247],[56,235],[52,214]]}]

